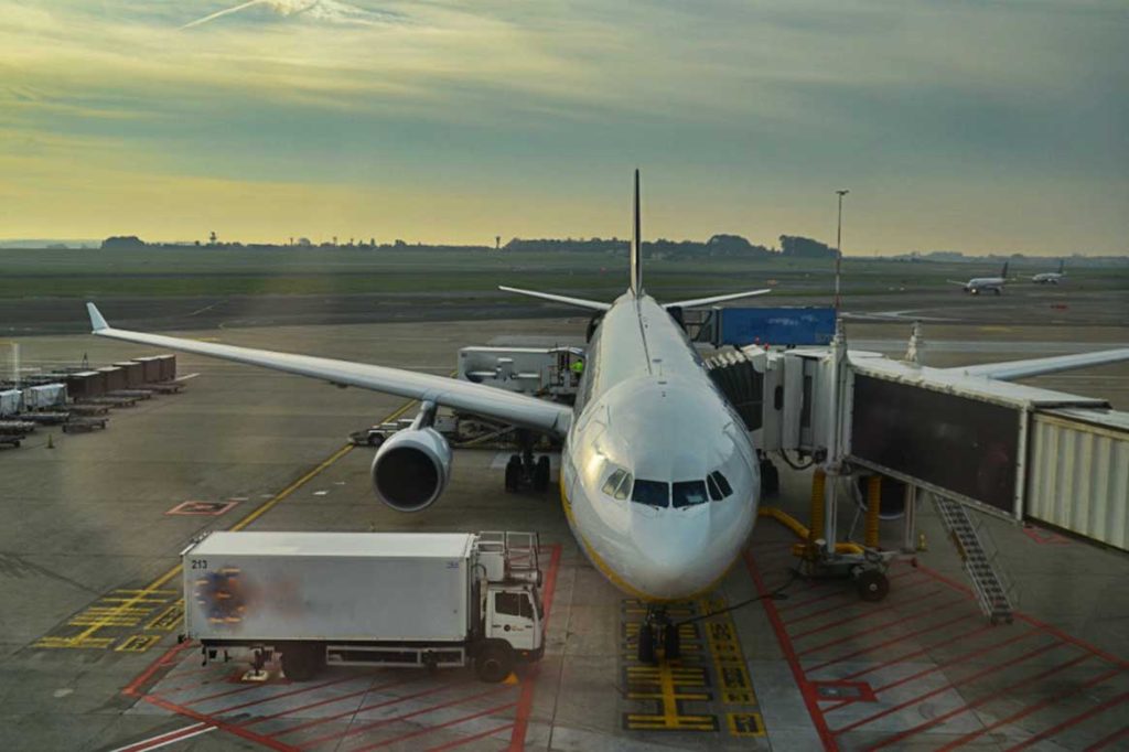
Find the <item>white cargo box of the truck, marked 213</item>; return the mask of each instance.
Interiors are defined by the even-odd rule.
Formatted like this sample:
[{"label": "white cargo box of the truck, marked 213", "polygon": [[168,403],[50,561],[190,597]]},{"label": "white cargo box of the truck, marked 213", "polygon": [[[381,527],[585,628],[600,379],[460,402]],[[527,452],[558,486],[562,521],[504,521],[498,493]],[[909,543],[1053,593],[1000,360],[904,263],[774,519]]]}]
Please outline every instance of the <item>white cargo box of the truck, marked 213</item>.
[{"label": "white cargo box of the truck, marked 213", "polygon": [[184,563],[203,642],[465,640],[470,533],[217,532]]}]

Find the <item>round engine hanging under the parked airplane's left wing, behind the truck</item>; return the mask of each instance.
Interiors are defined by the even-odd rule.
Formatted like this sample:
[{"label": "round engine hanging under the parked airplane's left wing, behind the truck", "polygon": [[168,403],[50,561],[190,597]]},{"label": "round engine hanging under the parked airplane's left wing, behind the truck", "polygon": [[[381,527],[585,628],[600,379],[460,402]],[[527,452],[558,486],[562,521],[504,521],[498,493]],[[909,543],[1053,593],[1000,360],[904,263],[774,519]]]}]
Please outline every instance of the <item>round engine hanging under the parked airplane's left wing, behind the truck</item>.
[{"label": "round engine hanging under the parked airplane's left wing, behind the truck", "polygon": [[419,511],[439,498],[450,478],[450,445],[434,428],[393,434],[373,460],[373,487],[397,511]]}]

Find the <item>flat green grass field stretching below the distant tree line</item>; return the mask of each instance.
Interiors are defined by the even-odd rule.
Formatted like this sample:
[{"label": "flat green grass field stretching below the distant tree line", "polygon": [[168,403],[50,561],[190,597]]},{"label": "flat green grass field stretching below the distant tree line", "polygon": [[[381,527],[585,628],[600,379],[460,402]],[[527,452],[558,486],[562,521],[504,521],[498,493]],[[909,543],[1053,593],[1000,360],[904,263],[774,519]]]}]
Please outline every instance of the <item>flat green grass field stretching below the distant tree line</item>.
[{"label": "flat green grass field stretching below the distant tree line", "polygon": [[[1030,268],[1026,268],[1030,266]],[[1023,280],[1053,264],[1013,269]],[[627,280],[625,255],[426,250],[0,250],[0,298],[350,295],[449,292],[498,297],[498,285],[607,298]],[[826,261],[786,259],[648,260],[649,290],[667,299],[751,287],[790,296],[826,296]],[[843,262],[852,296],[939,289],[946,280],[997,273],[994,263]],[[1129,266],[1068,270],[1076,289],[1129,289]]]}]

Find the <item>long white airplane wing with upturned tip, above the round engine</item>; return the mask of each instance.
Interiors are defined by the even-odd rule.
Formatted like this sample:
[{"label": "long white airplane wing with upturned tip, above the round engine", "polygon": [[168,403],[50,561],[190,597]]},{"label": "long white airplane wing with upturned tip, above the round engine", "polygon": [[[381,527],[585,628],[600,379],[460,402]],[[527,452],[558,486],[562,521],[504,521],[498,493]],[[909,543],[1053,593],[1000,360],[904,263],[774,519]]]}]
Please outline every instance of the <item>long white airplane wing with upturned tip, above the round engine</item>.
[{"label": "long white airplane wing with upturned tip, above the round engine", "polygon": [[482,384],[472,384],[434,374],[418,374],[401,368],[370,366],[347,360],[315,358],[312,356],[255,350],[230,344],[199,342],[178,336],[146,334],[114,329],[106,323],[93,303],[86,304],[90,326],[98,336],[126,342],[152,344],[160,348],[194,352],[196,355],[234,360],[251,366],[282,370],[288,374],[321,378],[333,384],[359,386],[375,392],[395,394],[412,400],[429,400],[439,405],[465,410],[488,418],[497,418],[515,426],[563,436],[572,420],[572,411],[560,404],[537,400],[524,394]]}]

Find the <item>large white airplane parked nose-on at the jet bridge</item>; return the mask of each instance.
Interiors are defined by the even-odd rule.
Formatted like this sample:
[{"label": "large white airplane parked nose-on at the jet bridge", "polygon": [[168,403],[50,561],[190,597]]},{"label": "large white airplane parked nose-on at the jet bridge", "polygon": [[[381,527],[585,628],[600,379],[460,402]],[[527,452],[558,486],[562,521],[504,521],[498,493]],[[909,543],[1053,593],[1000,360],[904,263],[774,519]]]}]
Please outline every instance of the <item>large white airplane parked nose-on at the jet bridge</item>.
[{"label": "large white airplane parked nose-on at the jet bridge", "polygon": [[[758,449],[683,331],[681,311],[769,290],[658,303],[644,288],[641,238],[636,170],[630,277],[623,295],[604,303],[502,288],[593,312],[586,366],[572,406],[435,374],[114,329],[93,303],[87,309],[93,333],[99,336],[420,401],[412,426],[385,440],[371,466],[376,496],[400,511],[427,508],[449,479],[450,446],[431,427],[437,406],[562,439],[559,486],[564,516],[593,566],[620,591],[646,603],[637,647],[640,661],[654,663],[659,639],[666,657],[680,652],[679,630],[666,615],[666,604],[709,592],[725,577],[752,533],[760,500]],[[968,370],[1019,378],[1123,359],[1129,359],[1129,349],[1022,361],[1010,370],[1008,364]]]}]

